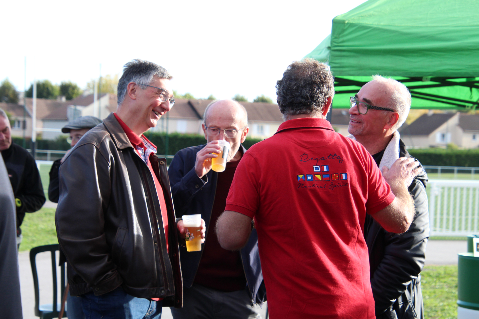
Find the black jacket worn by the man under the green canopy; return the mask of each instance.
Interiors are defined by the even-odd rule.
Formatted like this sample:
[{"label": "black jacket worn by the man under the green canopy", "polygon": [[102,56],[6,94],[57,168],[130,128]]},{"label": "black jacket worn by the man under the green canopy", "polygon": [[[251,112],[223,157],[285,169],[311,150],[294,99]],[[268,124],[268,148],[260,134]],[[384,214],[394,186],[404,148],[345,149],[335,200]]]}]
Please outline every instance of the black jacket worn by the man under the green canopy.
[{"label": "black jacket worn by the man under the green canopy", "polygon": [[[411,157],[401,140],[399,156]],[[369,248],[371,287],[378,319],[424,318],[419,273],[424,266],[429,238],[426,183],[427,175],[422,171],[409,187],[416,215],[405,233],[388,232],[366,215],[365,239]]]}]

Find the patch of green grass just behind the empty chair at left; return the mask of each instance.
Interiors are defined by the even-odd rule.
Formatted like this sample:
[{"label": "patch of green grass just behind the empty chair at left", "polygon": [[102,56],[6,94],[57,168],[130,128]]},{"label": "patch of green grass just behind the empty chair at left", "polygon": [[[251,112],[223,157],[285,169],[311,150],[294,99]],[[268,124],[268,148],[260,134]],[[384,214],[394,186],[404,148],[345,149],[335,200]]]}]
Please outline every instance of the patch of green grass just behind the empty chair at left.
[{"label": "patch of green grass just behind the empty chair at left", "polygon": [[21,227],[23,240],[20,251],[58,243],[53,208],[42,208],[35,213],[27,213]]}]

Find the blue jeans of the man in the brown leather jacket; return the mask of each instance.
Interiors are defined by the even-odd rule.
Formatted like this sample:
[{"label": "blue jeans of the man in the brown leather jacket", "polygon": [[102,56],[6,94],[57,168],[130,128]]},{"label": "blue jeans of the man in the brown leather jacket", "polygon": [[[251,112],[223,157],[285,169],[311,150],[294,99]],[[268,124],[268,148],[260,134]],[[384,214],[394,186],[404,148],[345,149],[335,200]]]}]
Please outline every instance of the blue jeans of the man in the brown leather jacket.
[{"label": "blue jeans of the man in the brown leather jacket", "polygon": [[109,293],[81,295],[86,319],[160,319],[162,302],[128,295],[118,287]]}]

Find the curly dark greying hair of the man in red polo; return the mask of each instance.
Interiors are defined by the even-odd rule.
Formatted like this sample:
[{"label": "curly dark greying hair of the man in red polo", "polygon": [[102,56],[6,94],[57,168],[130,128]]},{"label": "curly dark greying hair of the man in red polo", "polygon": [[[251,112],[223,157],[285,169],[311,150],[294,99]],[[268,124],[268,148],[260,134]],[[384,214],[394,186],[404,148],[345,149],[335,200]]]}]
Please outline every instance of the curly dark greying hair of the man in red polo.
[{"label": "curly dark greying hair of the man in red polo", "polygon": [[319,115],[326,100],[334,96],[330,67],[314,59],[293,62],[276,82],[279,110],[288,115]]}]

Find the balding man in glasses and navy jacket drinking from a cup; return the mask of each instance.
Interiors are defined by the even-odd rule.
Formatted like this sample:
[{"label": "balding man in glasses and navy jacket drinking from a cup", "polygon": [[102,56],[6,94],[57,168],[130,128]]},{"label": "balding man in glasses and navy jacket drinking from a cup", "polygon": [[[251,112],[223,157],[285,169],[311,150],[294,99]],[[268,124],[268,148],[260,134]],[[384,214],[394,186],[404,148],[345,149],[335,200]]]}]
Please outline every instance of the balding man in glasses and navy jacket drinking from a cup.
[{"label": "balding man in glasses and navy jacket drinking from a cup", "polygon": [[[171,308],[171,313],[174,319],[261,318],[259,305],[266,296],[256,230],[246,246],[234,252],[221,248],[214,231],[246,152],[241,143],[249,131],[248,116],[238,102],[220,100],[206,107],[203,118],[207,143],[180,150],[168,169],[176,216],[201,214],[207,225],[201,251],[180,247],[183,308]],[[211,159],[221,150],[219,140],[231,146],[221,173],[211,169]]]}]

